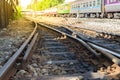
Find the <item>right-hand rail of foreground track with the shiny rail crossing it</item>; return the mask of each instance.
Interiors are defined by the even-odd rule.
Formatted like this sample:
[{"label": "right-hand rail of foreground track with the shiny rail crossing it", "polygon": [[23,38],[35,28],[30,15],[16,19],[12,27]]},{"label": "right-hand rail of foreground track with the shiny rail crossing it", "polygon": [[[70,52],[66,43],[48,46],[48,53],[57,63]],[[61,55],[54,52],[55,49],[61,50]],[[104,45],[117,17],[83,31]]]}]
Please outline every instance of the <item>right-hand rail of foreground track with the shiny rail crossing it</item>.
[{"label": "right-hand rail of foreground track with the shiny rail crossing it", "polygon": [[[120,65],[120,54],[119,54],[119,53],[114,52],[114,51],[112,51],[112,50],[109,50],[109,49],[107,49],[107,48],[104,48],[104,47],[102,47],[102,46],[99,46],[99,45],[97,45],[97,44],[94,44],[94,43],[92,43],[92,42],[90,42],[90,41],[86,41],[86,40],[80,38],[80,36],[79,36],[77,33],[76,33],[76,37],[74,37],[74,36],[72,36],[72,35],[70,35],[70,34],[67,34],[67,33],[65,33],[65,32],[59,31],[59,30],[57,30],[57,29],[55,29],[55,28],[49,27],[49,26],[46,25],[46,24],[43,24],[43,23],[39,23],[39,24],[42,25],[42,26],[44,26],[44,27],[46,27],[46,28],[49,28],[49,29],[54,30],[54,31],[56,31],[56,32],[59,32],[59,33],[61,33],[61,34],[63,34],[63,35],[66,35],[66,36],[68,36],[68,37],[70,37],[70,38],[72,38],[72,39],[74,39],[74,40],[79,41],[79,42],[82,43],[88,50],[90,50],[92,53],[94,53],[94,55],[95,55],[96,57],[99,57],[99,56],[101,55],[100,53],[97,53],[97,52],[96,52],[96,50],[97,50],[97,51],[100,51],[100,52],[101,52],[103,55],[105,55],[106,57],[108,57],[113,63],[115,63],[115,64],[117,64],[117,65]],[[71,32],[72,32],[72,31],[71,31]],[[72,32],[72,33],[75,33],[75,32]],[[77,37],[77,36],[79,36],[79,37]]]}]

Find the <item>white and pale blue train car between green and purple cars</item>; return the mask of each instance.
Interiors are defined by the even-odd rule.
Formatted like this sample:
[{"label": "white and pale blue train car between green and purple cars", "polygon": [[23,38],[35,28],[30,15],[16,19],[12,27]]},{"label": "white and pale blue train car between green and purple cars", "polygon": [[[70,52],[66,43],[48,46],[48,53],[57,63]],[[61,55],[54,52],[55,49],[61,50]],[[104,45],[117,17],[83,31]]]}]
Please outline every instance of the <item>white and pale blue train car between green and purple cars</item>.
[{"label": "white and pale blue train car between green and purple cars", "polygon": [[71,4],[71,12],[79,15],[79,17],[99,17],[102,12],[101,0],[83,0],[76,1]]}]

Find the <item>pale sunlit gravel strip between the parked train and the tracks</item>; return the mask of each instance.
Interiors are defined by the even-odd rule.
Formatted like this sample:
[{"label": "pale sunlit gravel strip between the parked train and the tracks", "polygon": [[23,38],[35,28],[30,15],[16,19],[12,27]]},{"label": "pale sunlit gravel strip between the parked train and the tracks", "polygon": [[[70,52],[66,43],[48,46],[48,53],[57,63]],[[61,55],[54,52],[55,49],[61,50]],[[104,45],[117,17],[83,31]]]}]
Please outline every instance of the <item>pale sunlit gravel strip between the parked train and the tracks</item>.
[{"label": "pale sunlit gravel strip between the parked train and the tracks", "polygon": [[120,19],[95,19],[95,18],[62,18],[38,16],[39,22],[54,25],[72,26],[73,28],[85,28],[98,32],[120,35]]}]

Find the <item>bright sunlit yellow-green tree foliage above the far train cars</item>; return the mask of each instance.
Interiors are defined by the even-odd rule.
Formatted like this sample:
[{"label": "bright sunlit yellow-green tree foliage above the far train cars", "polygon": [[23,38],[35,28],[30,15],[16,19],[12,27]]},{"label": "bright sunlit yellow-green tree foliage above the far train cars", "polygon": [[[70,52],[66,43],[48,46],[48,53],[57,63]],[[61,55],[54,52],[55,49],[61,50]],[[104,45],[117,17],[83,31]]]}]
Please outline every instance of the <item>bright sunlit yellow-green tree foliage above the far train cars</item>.
[{"label": "bright sunlit yellow-green tree foliage above the far train cars", "polygon": [[64,0],[40,0],[28,6],[28,9],[45,10],[63,3]]}]

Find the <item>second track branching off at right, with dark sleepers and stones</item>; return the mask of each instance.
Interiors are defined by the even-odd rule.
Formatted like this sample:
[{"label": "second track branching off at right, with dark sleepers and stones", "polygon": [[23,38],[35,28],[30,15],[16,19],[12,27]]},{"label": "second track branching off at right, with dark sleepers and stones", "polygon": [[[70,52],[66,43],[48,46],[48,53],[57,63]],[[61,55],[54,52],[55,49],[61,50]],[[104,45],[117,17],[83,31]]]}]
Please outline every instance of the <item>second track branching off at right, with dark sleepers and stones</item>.
[{"label": "second track branching off at right, with dark sleepers and stones", "polygon": [[[97,46],[101,46],[103,48],[109,49],[111,54],[114,54],[118,58],[120,58],[120,35],[115,34],[108,34],[104,32],[97,32],[94,30],[84,29],[84,28],[77,28],[77,29],[69,26],[59,27],[51,24],[50,25],[62,32],[65,32],[69,35],[74,35],[77,38],[84,40],[85,42],[93,43]],[[93,46],[93,45],[92,45]]]}]

